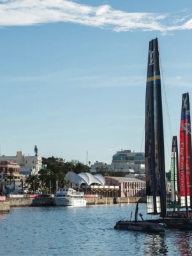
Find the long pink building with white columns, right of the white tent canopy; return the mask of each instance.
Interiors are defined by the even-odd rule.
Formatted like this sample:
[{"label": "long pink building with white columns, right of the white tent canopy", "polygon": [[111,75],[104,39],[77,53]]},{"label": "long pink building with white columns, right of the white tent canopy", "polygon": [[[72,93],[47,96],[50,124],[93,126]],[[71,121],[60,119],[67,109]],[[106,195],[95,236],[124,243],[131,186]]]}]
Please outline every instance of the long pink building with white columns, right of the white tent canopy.
[{"label": "long pink building with white columns, right of the white tent canopy", "polygon": [[119,186],[119,197],[146,196],[145,181],[125,177],[105,177],[108,186]]}]

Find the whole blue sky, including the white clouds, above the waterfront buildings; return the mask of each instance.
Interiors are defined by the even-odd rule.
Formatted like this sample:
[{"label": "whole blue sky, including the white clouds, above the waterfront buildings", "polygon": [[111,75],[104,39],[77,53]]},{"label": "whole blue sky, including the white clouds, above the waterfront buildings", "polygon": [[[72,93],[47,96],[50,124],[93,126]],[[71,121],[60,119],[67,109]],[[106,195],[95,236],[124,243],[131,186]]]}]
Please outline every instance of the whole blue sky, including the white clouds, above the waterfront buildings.
[{"label": "whole blue sky, including the white clouds, above the waterfront buildings", "polygon": [[[149,41],[158,37],[166,171],[192,86],[192,1],[0,0],[1,154],[110,164],[144,152]],[[88,160],[87,160],[88,159]]]}]

